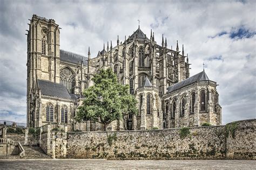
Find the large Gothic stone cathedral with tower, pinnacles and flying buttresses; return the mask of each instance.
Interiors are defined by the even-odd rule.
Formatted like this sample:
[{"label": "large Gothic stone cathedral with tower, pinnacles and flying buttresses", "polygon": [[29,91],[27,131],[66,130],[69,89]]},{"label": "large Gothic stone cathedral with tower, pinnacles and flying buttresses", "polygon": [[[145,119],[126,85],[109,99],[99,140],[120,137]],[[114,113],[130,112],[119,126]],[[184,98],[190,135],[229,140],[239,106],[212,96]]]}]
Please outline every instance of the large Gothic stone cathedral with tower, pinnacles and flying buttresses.
[{"label": "large Gothic stone cathedral with tower, pinnacles and flying buttresses", "polygon": [[[83,102],[83,91],[93,86],[100,69],[111,68],[138,101],[138,115],[113,121],[107,130],[150,130],[221,124],[218,84],[205,70],[190,76],[188,55],[161,44],[140,30],[124,41],[107,42],[97,56],[60,49],[60,27],[53,19],[33,15],[27,33],[27,123],[51,124],[69,131],[101,131],[103,125],[73,119]],[[114,45],[115,44],[115,45]]]}]

